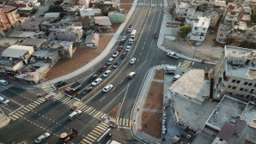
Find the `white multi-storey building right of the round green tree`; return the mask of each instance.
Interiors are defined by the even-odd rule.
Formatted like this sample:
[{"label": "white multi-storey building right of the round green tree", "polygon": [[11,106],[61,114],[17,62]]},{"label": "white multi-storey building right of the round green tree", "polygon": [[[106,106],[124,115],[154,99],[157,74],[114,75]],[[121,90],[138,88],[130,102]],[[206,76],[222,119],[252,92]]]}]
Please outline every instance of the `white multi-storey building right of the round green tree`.
[{"label": "white multi-storey building right of the round green tree", "polygon": [[204,41],[209,25],[210,18],[198,17],[198,21],[192,25],[192,32],[189,39],[200,42]]}]

